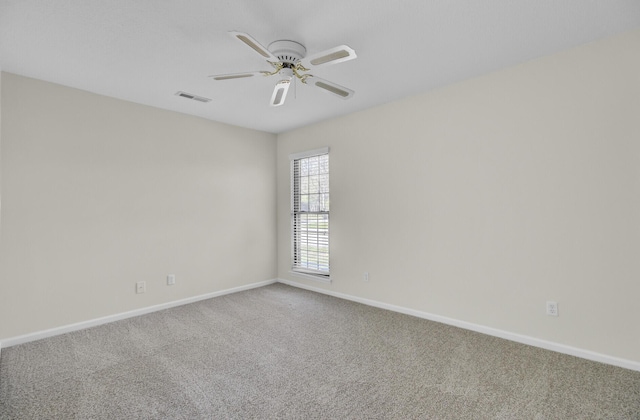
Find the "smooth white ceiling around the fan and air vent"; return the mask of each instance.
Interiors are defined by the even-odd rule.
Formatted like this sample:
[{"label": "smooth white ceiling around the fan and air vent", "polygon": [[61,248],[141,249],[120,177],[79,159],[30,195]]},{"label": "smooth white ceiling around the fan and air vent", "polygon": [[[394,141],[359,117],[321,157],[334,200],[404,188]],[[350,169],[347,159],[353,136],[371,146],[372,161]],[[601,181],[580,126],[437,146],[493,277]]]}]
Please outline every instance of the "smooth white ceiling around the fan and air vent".
[{"label": "smooth white ceiling around the fan and air vent", "polygon": [[[0,68],[279,133],[638,27],[639,0],[0,0]],[[349,45],[356,60],[313,74],[355,96],[298,83],[274,108],[274,78],[208,78],[270,69],[230,30]]]}]

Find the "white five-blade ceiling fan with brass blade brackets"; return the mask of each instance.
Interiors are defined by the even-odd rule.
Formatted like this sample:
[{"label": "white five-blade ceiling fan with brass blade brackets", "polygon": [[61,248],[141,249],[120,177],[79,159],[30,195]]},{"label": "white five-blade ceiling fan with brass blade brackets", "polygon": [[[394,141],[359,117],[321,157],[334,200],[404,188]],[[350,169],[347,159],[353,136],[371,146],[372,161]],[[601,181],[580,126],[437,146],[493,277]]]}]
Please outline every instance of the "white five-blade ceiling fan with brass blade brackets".
[{"label": "white five-blade ceiling fan with brass blade brackets", "polygon": [[272,42],[268,48],[265,48],[247,33],[237,31],[231,31],[229,33],[234,38],[251,47],[255,52],[260,54],[262,58],[266,59],[267,63],[273,67],[273,70],[209,76],[213,77],[214,80],[242,79],[253,76],[277,76],[279,80],[271,95],[271,106],[284,104],[289,86],[292,81],[295,82],[295,79],[300,80],[303,84],[310,84],[323,89],[342,99],[349,99],[355,93],[349,88],[308,73],[316,67],[342,63],[356,58],[356,52],[346,45],[339,45],[307,57],[307,49],[299,42],[279,40]]}]

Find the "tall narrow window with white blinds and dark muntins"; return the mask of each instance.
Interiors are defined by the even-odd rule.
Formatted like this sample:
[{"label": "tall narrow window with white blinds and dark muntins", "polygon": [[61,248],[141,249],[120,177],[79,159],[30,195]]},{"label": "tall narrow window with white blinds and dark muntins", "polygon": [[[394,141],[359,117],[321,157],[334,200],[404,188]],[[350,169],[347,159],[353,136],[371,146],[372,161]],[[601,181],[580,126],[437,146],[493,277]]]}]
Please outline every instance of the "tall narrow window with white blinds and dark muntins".
[{"label": "tall narrow window with white blinds and dark muntins", "polygon": [[329,278],[329,148],[291,155],[292,270]]}]

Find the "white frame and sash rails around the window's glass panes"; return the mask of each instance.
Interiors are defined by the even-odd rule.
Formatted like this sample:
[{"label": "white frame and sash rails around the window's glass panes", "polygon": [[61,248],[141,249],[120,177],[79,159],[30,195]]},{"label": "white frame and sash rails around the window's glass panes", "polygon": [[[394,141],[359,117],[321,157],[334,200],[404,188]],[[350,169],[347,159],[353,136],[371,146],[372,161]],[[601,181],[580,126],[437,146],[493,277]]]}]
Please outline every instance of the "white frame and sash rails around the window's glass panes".
[{"label": "white frame and sash rails around the window's glass panes", "polygon": [[[295,274],[297,276],[301,276],[301,277],[305,277],[305,278],[309,278],[309,279],[313,279],[313,280],[319,280],[319,281],[323,281],[323,282],[327,282],[330,283],[331,282],[331,264],[329,261],[330,255],[331,255],[331,250],[330,250],[330,241],[331,241],[331,235],[330,235],[330,206],[329,206],[329,211],[318,211],[318,212],[310,212],[310,211],[298,211],[296,212],[295,210],[295,200],[296,200],[296,195],[295,195],[295,171],[294,171],[294,165],[295,165],[295,161],[301,160],[301,159],[306,159],[306,158],[311,158],[314,156],[322,156],[322,155],[329,155],[329,147],[323,147],[320,149],[314,149],[314,150],[307,150],[304,152],[300,152],[300,153],[294,153],[294,154],[290,154],[289,155],[289,162],[290,162],[290,167],[289,167],[289,173],[290,173],[290,211],[291,211],[291,233],[290,233],[290,237],[291,237],[291,270],[290,273]],[[330,178],[330,174],[331,174],[331,170],[329,169],[328,175],[329,175],[329,184],[331,183],[331,178]],[[329,195],[331,194],[331,189],[329,188]],[[309,268],[304,268],[304,267],[300,267],[297,266],[297,262],[296,262],[296,216],[298,214],[323,214],[326,215],[327,217],[327,246],[328,246],[328,251],[327,251],[327,264],[328,264],[328,268],[329,270],[327,272],[324,271],[318,271],[318,270],[313,270],[313,269],[309,269]]]}]

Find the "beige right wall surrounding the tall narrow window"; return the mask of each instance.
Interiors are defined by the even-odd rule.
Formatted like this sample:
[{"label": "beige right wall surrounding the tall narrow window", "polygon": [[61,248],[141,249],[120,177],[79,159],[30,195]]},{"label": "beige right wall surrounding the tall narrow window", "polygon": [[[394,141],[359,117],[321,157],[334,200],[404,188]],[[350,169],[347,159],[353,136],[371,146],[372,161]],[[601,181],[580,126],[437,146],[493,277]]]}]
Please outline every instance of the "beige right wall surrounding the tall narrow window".
[{"label": "beige right wall surrounding the tall narrow window", "polygon": [[[636,30],[280,135],[279,277],[640,361],[637,51]],[[289,273],[288,155],[322,146],[330,285]]]}]

